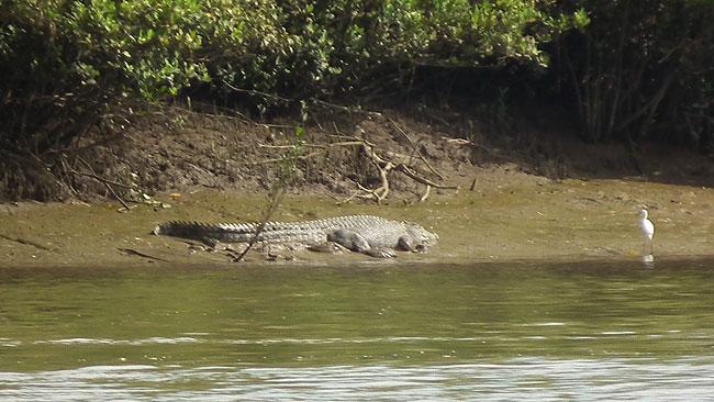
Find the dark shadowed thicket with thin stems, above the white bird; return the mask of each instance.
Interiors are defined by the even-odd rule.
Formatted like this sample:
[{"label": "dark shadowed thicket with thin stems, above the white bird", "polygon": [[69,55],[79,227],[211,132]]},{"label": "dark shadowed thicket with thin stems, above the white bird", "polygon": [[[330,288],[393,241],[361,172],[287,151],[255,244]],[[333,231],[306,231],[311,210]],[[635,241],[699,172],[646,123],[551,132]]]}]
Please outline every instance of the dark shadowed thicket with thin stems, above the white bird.
[{"label": "dark shadowed thicket with thin stems, above the white bird", "polygon": [[[714,132],[714,3],[580,0],[591,23],[560,41],[591,142],[645,137],[709,148]],[[704,149],[712,150],[712,149]]]}]

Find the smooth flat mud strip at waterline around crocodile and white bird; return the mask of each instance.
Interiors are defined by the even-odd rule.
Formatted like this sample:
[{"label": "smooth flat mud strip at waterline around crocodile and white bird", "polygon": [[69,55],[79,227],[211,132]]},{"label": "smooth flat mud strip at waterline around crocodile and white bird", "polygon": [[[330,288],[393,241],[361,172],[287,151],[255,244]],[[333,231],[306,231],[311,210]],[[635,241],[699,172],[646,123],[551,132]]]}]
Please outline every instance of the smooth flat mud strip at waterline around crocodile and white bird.
[{"label": "smooth flat mud strip at waterline around crocodile and white bird", "polygon": [[[466,185],[466,183],[465,183]],[[367,213],[419,222],[440,236],[427,254],[398,261],[469,263],[516,259],[634,259],[642,252],[637,210],[655,222],[657,257],[711,256],[714,190],[632,180],[551,181],[522,172],[482,171],[472,191],[432,196],[426,202],[336,204],[325,196],[287,196],[275,220]],[[114,203],[0,205],[0,266],[231,265],[222,253],[150,234],[168,220],[256,221],[264,197],[198,190],[156,198],[160,205],[118,212]],[[370,257],[301,252],[286,265],[377,261]],[[248,263],[265,261],[249,254]],[[239,263],[245,264],[245,263]]]}]

